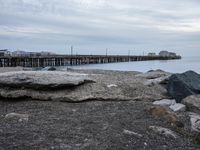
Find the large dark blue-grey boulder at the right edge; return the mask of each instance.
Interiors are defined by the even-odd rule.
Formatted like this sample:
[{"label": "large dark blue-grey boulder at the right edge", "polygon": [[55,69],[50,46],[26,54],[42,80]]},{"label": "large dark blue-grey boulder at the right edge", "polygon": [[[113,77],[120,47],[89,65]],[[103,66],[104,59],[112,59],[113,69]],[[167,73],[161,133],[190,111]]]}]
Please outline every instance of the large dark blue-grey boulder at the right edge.
[{"label": "large dark blue-grey boulder at the right edge", "polygon": [[167,85],[168,93],[181,102],[187,96],[200,93],[200,75],[194,71],[173,74]]}]

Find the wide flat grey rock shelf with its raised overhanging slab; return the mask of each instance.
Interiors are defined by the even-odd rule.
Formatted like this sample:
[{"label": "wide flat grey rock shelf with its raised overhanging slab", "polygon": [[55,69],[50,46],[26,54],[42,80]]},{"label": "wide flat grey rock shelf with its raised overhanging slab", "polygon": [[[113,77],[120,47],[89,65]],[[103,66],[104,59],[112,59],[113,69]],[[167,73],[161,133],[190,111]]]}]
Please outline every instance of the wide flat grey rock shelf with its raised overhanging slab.
[{"label": "wide flat grey rock shelf with its raised overhanging slab", "polygon": [[16,72],[1,76],[5,80],[0,80],[0,96],[6,99],[81,102],[168,98],[164,87],[159,84],[146,86],[147,79],[137,77],[134,72]]}]

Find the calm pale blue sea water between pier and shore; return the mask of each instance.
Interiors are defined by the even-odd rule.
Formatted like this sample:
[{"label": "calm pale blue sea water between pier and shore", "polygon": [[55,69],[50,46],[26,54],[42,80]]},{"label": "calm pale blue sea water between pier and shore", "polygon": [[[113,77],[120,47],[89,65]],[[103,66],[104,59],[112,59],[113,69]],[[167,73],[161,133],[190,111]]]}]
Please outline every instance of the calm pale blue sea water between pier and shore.
[{"label": "calm pale blue sea water between pier and shore", "polygon": [[103,69],[120,71],[140,71],[162,69],[172,73],[182,73],[187,70],[193,70],[200,73],[200,57],[183,57],[181,60],[156,60],[156,61],[138,61],[109,64],[90,64],[73,66],[80,69]]}]

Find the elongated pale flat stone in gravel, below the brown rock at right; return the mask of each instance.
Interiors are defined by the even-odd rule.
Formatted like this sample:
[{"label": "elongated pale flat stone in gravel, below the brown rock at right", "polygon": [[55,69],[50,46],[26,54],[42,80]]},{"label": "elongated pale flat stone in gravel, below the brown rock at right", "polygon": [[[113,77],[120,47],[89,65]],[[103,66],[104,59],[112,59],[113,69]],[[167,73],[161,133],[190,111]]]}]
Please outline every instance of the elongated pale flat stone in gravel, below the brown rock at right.
[{"label": "elongated pale flat stone in gravel, below the brown rock at right", "polygon": [[166,137],[172,137],[174,139],[178,137],[174,131],[167,128],[159,126],[150,126],[149,129],[153,130],[155,133],[165,135]]}]

